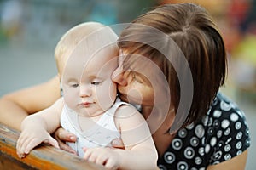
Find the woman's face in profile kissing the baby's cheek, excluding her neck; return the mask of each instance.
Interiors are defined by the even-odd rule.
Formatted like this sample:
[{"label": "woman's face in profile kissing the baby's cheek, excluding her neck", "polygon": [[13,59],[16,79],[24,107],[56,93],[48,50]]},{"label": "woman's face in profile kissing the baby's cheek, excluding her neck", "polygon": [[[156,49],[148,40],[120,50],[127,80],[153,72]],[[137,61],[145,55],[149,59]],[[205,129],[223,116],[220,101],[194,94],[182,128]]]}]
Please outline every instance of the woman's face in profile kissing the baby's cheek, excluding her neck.
[{"label": "woman's face in profile kissing the baby's cheek, excluding her neck", "polygon": [[136,54],[131,57],[127,54],[120,50],[119,67],[113,71],[112,76],[113,82],[118,84],[119,97],[123,101],[143,106],[154,106],[158,102],[168,101],[170,93],[165,90],[169,89],[165,88],[168,83],[160,68],[146,57]]}]

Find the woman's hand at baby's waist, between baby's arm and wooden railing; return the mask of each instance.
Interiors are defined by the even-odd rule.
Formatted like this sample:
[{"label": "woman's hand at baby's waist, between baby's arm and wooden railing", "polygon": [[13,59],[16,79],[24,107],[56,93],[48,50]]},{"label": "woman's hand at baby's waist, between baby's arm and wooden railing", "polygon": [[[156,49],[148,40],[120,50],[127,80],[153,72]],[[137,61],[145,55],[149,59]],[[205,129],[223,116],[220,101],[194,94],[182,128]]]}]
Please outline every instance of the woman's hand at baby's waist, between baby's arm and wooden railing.
[{"label": "woman's hand at baby's waist, between baby's arm and wooden railing", "polygon": [[64,128],[60,127],[55,131],[54,137],[59,143],[61,150],[66,150],[67,152],[77,155],[75,150],[73,150],[70,146],[65,144],[65,142],[74,143],[77,141],[77,137],[73,133],[69,133]]}]

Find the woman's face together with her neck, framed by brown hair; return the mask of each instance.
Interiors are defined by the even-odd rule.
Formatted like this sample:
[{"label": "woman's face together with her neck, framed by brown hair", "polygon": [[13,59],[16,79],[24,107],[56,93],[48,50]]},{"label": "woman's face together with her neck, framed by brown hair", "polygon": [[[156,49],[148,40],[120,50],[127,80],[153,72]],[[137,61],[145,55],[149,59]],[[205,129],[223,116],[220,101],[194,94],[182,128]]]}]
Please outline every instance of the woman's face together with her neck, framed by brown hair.
[{"label": "woman's face together with her neck, framed by brown hair", "polygon": [[151,133],[168,120],[166,124],[170,126],[164,128],[166,131],[174,120],[174,114],[168,114],[172,106],[166,77],[159,66],[147,57],[127,54],[127,51],[119,53],[119,67],[112,74],[113,82],[118,85],[120,99],[142,106],[142,114]]}]

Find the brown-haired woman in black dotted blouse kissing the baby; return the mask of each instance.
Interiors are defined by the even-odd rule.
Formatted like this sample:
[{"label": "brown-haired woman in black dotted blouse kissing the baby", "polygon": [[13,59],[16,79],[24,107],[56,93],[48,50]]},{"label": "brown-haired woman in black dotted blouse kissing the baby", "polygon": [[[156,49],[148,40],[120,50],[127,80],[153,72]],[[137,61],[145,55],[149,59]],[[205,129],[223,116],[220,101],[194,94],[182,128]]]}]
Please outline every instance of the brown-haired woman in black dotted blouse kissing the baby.
[{"label": "brown-haired woman in black dotted blouse kissing the baby", "polygon": [[[248,127],[237,106],[218,93],[226,54],[207,11],[186,3],[160,6],[134,20],[118,42],[121,53],[113,81],[121,99],[142,106],[159,167],[244,169]],[[49,103],[55,99],[57,95]],[[58,136],[72,137],[63,131]]]}]

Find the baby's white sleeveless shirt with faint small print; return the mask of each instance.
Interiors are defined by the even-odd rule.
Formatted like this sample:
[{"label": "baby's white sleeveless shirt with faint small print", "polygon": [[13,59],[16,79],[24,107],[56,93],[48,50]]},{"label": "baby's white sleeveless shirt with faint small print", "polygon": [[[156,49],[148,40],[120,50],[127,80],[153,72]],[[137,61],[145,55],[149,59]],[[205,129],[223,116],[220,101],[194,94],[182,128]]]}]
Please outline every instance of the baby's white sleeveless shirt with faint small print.
[{"label": "baby's white sleeveless shirt with faint small print", "polygon": [[64,105],[61,112],[61,126],[77,136],[76,143],[67,143],[80,157],[84,156],[83,148],[110,146],[113,139],[120,139],[120,133],[114,122],[114,114],[120,105],[130,105],[116,99],[113,106],[103,113],[94,127],[82,131],[79,127],[79,115]]}]

